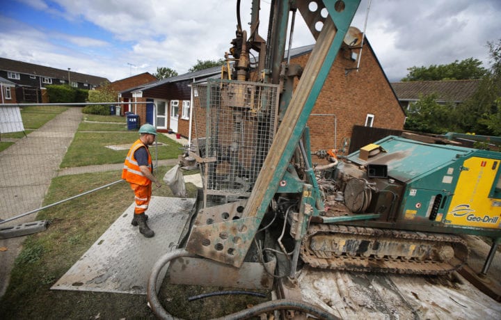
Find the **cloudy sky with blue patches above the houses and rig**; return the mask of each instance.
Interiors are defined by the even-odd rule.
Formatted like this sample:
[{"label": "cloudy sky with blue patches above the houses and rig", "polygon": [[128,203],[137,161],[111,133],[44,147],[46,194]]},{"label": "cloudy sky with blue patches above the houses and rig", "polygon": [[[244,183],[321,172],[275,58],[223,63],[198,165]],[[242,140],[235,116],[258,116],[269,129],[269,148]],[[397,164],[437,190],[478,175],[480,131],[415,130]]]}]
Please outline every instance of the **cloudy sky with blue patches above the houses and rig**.
[{"label": "cloudy sky with blue patches above the houses and rig", "polygon": [[[237,24],[235,0],[9,0],[0,6],[0,56],[115,81],[157,67],[183,74],[223,58]],[[248,29],[250,0],[241,1]],[[261,1],[266,38],[271,0]],[[353,26],[363,30],[369,0]],[[412,66],[477,58],[501,39],[500,0],[373,0],[366,35],[390,81]],[[314,42],[300,15],[292,47]]]}]

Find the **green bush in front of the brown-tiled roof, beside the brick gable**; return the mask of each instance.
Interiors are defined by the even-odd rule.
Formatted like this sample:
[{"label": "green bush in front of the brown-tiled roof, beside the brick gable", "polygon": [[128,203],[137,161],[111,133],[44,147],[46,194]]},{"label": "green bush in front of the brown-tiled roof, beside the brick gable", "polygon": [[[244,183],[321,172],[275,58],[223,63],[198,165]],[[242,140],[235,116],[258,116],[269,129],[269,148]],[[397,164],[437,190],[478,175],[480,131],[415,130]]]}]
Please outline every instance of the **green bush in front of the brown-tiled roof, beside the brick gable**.
[{"label": "green bush in front of the brown-tiled roof, beside the brick gable", "polygon": [[407,113],[404,129],[429,134],[443,134],[451,131],[451,113],[454,106],[438,104],[436,99],[436,94],[420,95],[420,99],[411,105]]}]

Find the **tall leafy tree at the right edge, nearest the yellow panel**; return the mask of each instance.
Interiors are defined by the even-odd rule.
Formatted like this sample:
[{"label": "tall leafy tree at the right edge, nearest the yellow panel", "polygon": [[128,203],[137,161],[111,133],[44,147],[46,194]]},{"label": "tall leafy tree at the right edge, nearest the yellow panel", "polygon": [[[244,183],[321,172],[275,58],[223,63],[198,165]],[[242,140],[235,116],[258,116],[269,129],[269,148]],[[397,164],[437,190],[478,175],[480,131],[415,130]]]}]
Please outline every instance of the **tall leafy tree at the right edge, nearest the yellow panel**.
[{"label": "tall leafy tree at the right edge, nearest the yellow panel", "polygon": [[501,135],[501,39],[487,42],[491,69],[480,81],[477,92],[457,109],[456,117],[466,132]]}]

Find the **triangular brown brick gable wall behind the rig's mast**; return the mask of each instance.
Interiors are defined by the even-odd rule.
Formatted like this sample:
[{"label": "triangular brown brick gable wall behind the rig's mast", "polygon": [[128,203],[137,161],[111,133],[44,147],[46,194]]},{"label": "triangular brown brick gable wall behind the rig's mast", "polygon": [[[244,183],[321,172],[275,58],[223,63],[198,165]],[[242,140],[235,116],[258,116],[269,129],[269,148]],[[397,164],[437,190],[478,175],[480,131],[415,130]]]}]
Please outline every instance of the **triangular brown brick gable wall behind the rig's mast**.
[{"label": "triangular brown brick gable wall behind the rig's mast", "polygon": [[356,68],[356,61],[348,56],[348,50],[340,50],[312,110],[331,115],[311,115],[308,120],[312,151],[339,149],[343,138],[351,137],[353,125],[365,125],[367,114],[374,115],[373,127],[404,127],[404,111],[370,47],[364,45],[359,70],[349,70]]}]

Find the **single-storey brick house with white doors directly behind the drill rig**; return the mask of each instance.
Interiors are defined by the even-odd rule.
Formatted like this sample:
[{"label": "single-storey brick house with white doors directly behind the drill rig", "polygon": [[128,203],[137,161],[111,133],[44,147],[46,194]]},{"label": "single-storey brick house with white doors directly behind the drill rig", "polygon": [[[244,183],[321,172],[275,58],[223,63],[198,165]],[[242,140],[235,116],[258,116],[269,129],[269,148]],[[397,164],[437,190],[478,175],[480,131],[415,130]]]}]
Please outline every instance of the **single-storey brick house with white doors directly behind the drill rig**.
[{"label": "single-storey brick house with white doors directly behind the drill rig", "polygon": [[[305,67],[312,48],[313,45],[292,49],[290,63]],[[354,126],[395,130],[404,127],[404,110],[367,40],[357,69],[358,56],[360,49],[343,46],[331,67],[308,120],[312,151],[339,149],[344,138],[349,141]],[[121,93],[122,101],[149,101],[150,113],[153,112],[151,103],[155,102],[159,110],[156,121],[147,115],[144,106],[138,105],[136,110],[132,110],[139,114],[140,123],[149,122],[157,125],[159,131],[172,130],[191,138],[196,133],[195,126],[190,125],[190,106],[193,105],[190,85],[209,77],[220,78],[221,67],[182,74],[126,90]]]}]

